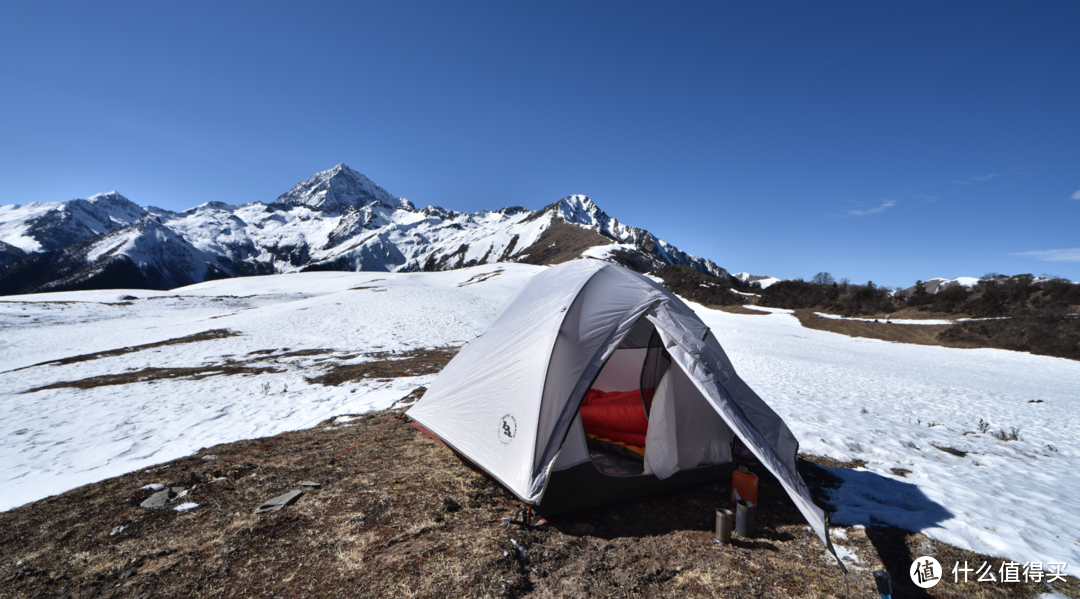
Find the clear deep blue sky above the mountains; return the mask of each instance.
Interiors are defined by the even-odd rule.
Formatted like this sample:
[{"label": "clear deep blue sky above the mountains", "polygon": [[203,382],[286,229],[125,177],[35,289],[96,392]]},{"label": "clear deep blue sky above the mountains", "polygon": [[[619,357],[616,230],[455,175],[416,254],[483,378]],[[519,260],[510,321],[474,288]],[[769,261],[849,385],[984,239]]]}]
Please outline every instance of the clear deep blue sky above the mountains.
[{"label": "clear deep blue sky above the mountains", "polygon": [[1080,3],[4,2],[0,204],[590,195],[734,271],[1080,280]]}]

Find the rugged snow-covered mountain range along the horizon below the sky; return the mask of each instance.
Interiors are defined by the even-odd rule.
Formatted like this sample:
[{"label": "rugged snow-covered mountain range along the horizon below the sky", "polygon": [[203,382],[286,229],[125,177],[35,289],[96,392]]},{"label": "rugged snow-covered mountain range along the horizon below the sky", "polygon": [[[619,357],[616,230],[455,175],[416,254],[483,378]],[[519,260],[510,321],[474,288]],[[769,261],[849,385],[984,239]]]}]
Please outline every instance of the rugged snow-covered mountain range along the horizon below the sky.
[{"label": "rugged snow-covered mountain range along the horizon below the sky", "polygon": [[0,295],[166,289],[230,276],[298,271],[443,271],[580,256],[638,271],[711,260],[619,222],[584,195],[529,210],[416,208],[339,164],[270,204],[143,207],[117,192],[0,207]]}]

